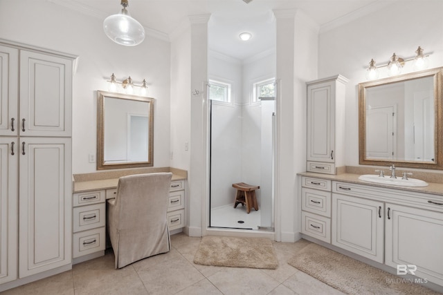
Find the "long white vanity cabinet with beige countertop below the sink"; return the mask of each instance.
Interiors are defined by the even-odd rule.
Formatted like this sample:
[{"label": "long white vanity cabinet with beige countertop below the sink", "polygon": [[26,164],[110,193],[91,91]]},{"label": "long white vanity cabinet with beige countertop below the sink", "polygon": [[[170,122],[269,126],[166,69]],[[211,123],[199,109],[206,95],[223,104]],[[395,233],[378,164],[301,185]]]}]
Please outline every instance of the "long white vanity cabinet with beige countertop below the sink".
[{"label": "long white vanity cabinet with beige countertop below the sink", "polygon": [[415,276],[443,286],[443,184],[394,187],[307,172],[298,192],[304,238],[394,273],[414,265]]}]

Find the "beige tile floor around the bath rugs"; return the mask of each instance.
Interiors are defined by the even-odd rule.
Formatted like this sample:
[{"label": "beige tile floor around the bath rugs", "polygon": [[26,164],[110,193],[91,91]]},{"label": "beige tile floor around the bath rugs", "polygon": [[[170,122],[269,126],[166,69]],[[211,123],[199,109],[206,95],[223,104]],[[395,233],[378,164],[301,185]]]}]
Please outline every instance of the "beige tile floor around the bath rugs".
[{"label": "beige tile floor around the bath rugs", "polygon": [[73,265],[50,278],[3,292],[10,294],[343,294],[287,264],[309,244],[274,242],[278,269],[213,267],[192,263],[201,238],[171,236],[167,254],[114,269],[114,253]]}]

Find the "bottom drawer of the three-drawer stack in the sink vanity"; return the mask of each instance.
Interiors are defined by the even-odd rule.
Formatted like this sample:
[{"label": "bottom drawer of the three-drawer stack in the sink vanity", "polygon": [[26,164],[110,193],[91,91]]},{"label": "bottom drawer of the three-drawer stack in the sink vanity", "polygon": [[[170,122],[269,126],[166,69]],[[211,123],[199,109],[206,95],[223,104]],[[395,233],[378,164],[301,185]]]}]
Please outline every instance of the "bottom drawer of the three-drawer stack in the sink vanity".
[{"label": "bottom drawer of the three-drawer stack in the sink vanity", "polygon": [[331,242],[331,220],[309,212],[302,212],[302,234]]}]

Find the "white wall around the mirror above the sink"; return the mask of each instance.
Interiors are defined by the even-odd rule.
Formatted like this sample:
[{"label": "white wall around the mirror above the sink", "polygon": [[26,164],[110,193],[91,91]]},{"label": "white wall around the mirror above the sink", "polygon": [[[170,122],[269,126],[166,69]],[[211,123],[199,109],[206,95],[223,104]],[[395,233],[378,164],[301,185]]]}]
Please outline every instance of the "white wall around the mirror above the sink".
[{"label": "white wall around the mirror above the sink", "polygon": [[[392,53],[413,57],[418,46],[432,53],[429,68],[443,66],[443,1],[394,1],[383,10],[319,35],[319,77],[341,74],[346,86],[347,166],[359,165],[358,84],[371,59],[387,64]],[[394,12],[394,13],[392,13]],[[406,63],[403,73],[412,71]],[[381,68],[379,78],[387,77]]]}]

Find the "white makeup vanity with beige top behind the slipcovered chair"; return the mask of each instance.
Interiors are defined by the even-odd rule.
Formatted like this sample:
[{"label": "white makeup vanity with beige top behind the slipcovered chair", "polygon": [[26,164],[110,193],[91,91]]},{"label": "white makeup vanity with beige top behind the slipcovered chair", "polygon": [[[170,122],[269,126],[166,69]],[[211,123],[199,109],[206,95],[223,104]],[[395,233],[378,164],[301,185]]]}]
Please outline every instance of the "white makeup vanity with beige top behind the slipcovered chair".
[{"label": "white makeup vanity with beige top behind the slipcovered chair", "polygon": [[173,168],[141,168],[76,174],[73,179],[73,264],[103,256],[106,248],[106,200],[116,198],[118,178],[138,173],[172,172],[168,227],[185,226],[187,172]]}]

